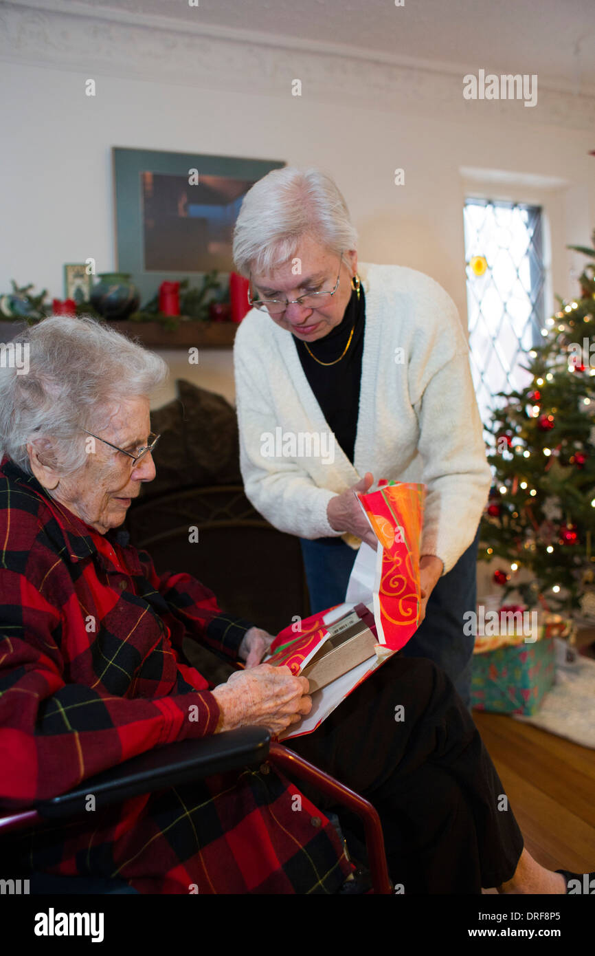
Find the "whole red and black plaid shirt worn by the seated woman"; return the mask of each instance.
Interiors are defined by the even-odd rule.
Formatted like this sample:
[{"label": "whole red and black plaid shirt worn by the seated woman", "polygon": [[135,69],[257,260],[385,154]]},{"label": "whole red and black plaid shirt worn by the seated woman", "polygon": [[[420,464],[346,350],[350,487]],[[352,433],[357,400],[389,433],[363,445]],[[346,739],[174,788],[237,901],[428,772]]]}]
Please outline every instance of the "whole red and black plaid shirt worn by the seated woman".
[{"label": "whole red and black plaid shirt worn by the seated woman", "polygon": [[[158,576],[126,532],[101,535],[7,458],[0,467],[0,806],[32,806],[128,757],[213,733],[219,707],[183,663],[190,636],[237,660],[248,621],[186,574]],[[189,719],[190,706],[193,719]],[[198,717],[198,719],[194,719]],[[146,893],[334,892],[351,873],[328,818],[274,771],[137,797],[17,843],[31,872]],[[24,839],[24,844],[23,844]]]}]

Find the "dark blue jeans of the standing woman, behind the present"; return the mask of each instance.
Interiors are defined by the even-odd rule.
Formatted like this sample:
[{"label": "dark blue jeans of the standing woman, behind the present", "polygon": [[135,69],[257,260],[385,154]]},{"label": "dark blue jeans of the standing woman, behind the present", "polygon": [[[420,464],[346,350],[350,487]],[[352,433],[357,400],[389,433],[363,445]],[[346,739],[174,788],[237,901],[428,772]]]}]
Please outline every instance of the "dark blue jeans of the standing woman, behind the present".
[{"label": "dark blue jeans of the standing woman, behind the present", "polygon": [[[324,611],[345,600],[357,552],[341,538],[300,538],[308,580],[311,613]],[[444,670],[463,703],[471,707],[471,674],[474,636],[463,634],[463,614],[475,611],[479,529],[472,544],[448,574],[438,578],[428,599],[426,616],[399,654],[425,657]]]}]

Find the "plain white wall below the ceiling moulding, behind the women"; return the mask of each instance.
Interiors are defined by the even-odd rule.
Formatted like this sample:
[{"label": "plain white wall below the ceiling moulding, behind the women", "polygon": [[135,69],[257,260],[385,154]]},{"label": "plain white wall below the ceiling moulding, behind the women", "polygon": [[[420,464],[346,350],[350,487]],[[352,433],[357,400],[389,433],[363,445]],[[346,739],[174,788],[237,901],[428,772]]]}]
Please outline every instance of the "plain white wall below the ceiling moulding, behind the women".
[{"label": "plain white wall below the ceiling moulding, behind the women", "polygon": [[[501,108],[491,113],[490,102],[473,104],[481,109],[469,120],[440,119],[402,102],[391,110],[386,98],[379,106],[347,96],[330,103],[122,76],[97,76],[96,98],[88,98],[84,71],[18,62],[0,69],[2,291],[15,278],[61,296],[65,262],[93,256],[98,272],[117,266],[111,147],[118,145],[325,166],[359,229],[360,259],[428,272],[453,295],[463,321],[462,201],[465,183],[477,193],[483,179],[493,197],[542,202],[551,291],[576,292],[570,267],[581,259],[564,246],[587,242],[595,224],[592,135],[533,117],[523,126],[521,104],[510,104],[513,120]],[[397,166],[404,186],[393,185]],[[471,181],[461,173],[469,168]],[[201,364],[187,368],[182,353],[164,355],[175,375],[233,398],[230,352],[203,351]]]}]

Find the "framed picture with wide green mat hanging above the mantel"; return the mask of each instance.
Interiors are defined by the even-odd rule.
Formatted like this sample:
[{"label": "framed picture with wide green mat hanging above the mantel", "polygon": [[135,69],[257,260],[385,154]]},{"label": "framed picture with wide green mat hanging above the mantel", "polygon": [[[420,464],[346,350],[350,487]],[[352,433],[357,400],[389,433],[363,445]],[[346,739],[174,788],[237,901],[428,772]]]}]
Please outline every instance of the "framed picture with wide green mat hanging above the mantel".
[{"label": "framed picture with wide green mat hanging above the mantel", "polygon": [[250,186],[281,160],[113,148],[117,271],[141,302],[164,280],[231,272],[232,236]]}]

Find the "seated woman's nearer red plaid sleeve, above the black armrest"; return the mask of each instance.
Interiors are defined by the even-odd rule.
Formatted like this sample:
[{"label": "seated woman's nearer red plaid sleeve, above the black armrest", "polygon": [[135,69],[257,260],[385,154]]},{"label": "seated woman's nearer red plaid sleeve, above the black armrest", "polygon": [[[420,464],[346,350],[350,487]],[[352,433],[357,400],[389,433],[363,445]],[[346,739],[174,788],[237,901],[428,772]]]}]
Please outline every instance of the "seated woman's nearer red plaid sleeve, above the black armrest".
[{"label": "seated woman's nearer red plaid sleeve, above the black armrest", "polygon": [[51,798],[145,750],[215,732],[220,710],[209,691],[128,699],[65,683],[60,609],[7,568],[0,568],[0,593],[4,806]]}]

